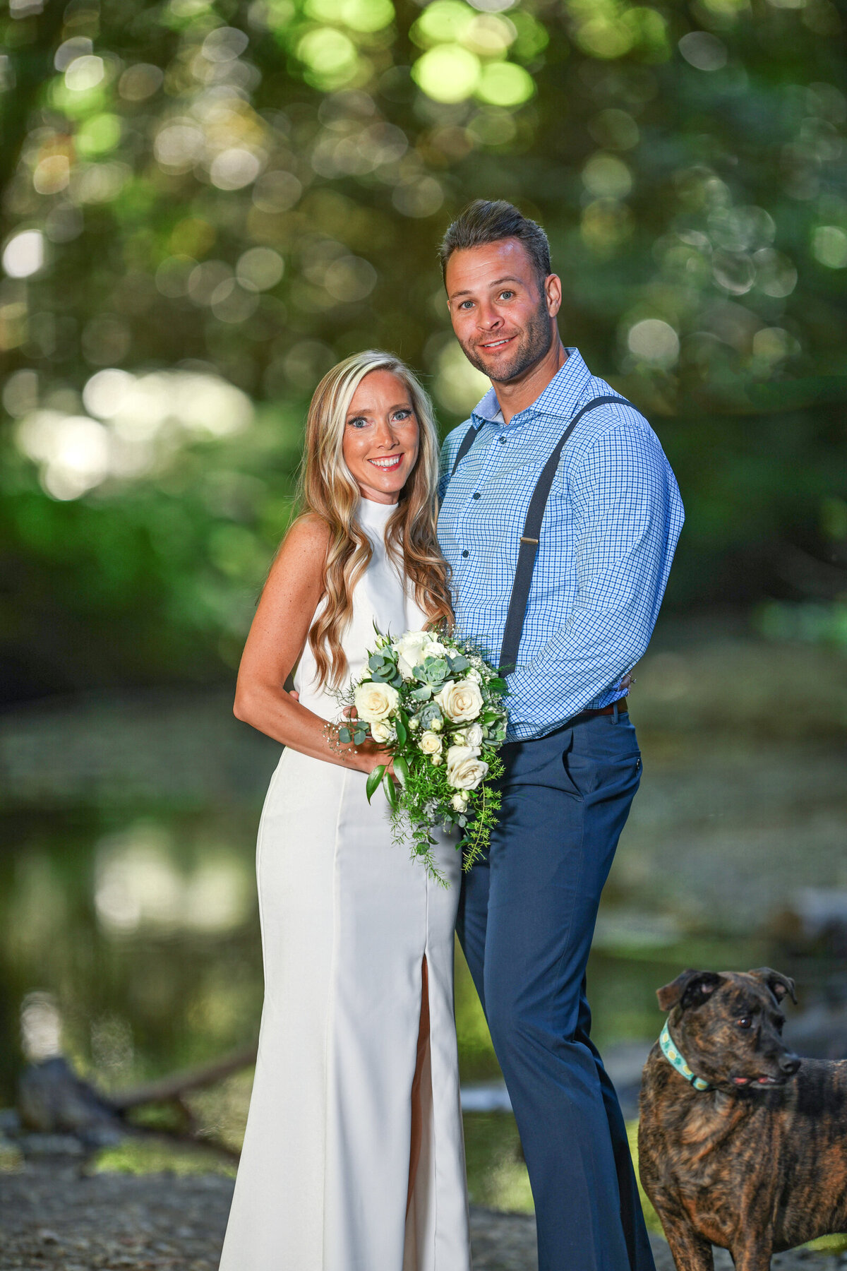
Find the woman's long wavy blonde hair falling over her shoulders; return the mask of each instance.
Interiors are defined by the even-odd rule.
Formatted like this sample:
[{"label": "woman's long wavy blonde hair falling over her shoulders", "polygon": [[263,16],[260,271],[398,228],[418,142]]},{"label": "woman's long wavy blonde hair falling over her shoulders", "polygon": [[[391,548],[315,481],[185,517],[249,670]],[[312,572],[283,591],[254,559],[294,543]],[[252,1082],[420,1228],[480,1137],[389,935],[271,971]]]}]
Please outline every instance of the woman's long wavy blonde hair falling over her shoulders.
[{"label": "woman's long wavy blonde hair falling over her shoulders", "polygon": [[301,515],[311,512],[329,526],[323,580],[325,604],[309,632],[309,643],[319,683],[333,686],[342,683],[347,670],[342,634],[353,614],[353,588],[372,555],[368,536],[356,516],[361,494],[344,461],[344,428],[357,388],[366,375],[380,370],[390,371],[405,384],[419,432],[418,459],[386,525],[386,549],[411,581],[415,600],[429,622],[453,620],[450,567],[436,538],[438,435],[432,404],[404,362],[392,353],[368,348],[326,372],[315,389],[306,418]]}]

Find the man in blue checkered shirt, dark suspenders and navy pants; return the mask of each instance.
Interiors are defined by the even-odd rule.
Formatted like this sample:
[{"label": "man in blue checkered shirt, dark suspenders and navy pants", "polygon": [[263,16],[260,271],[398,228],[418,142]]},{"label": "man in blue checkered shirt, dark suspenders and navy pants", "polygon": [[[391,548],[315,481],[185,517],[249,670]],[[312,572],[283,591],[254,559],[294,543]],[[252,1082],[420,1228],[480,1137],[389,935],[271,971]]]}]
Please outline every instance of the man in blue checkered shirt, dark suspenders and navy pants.
[{"label": "man in blue checkered shirt, dark suspenders and navy pants", "polygon": [[456,338],[493,386],[444,442],[438,538],[458,630],[509,672],[503,807],[458,935],[521,1132],[540,1271],[651,1271],[585,965],[641,774],[629,672],[682,503],[646,419],[563,346],[544,230],[477,200],[441,259]]}]

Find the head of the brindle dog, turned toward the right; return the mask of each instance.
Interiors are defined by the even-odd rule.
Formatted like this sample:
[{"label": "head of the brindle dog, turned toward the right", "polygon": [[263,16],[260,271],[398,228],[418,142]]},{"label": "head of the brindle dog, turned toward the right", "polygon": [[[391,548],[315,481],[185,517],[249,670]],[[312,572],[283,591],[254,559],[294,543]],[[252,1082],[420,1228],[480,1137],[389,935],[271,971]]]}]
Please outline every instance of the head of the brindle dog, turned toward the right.
[{"label": "head of the brindle dog, turned toward the right", "polygon": [[726,1093],[784,1085],[800,1060],[782,1041],[781,1003],[794,980],[758,971],[683,971],[657,996],[688,1065]]}]

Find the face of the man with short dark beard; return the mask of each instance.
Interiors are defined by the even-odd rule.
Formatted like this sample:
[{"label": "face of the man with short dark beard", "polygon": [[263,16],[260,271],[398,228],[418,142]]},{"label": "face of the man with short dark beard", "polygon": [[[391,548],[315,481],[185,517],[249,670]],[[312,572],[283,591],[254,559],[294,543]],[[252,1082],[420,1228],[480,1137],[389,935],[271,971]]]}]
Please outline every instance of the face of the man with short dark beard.
[{"label": "face of the man with short dark beard", "polygon": [[519,379],[549,352],[559,278],[551,273],[542,285],[518,239],[453,252],[444,283],[456,339],[494,383]]}]

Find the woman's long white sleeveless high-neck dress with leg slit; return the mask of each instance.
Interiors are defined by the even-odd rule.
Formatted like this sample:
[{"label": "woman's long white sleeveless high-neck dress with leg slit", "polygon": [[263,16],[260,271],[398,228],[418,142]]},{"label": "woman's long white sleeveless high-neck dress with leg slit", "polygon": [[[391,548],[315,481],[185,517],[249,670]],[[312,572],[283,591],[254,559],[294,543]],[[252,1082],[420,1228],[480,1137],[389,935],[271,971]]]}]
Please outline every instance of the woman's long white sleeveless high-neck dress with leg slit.
[{"label": "woman's long white sleeveless high-neck dress with leg slit", "polygon": [[[362,500],[373,557],[343,637],[350,676],[373,623],[425,622],[385,549],[394,506]],[[302,705],[335,719],[306,644]],[[259,825],[265,998],[221,1271],[470,1271],[453,1021],[461,863],[438,834],[433,882],[391,840],[366,775],[284,750]],[[422,960],[429,981],[423,1144],[406,1215]]]}]

